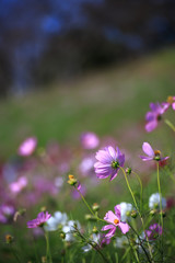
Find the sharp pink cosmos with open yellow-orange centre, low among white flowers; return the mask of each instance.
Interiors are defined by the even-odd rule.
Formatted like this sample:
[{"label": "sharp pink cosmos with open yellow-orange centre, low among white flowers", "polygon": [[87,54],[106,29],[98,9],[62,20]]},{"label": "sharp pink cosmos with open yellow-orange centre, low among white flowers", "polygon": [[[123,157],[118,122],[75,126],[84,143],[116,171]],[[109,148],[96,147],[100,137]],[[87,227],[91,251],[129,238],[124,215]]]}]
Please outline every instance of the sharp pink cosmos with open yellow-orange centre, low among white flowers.
[{"label": "sharp pink cosmos with open yellow-orange centre, low among white flowers", "polygon": [[105,235],[106,238],[113,238],[117,227],[120,228],[122,233],[127,233],[130,228],[127,222],[120,221],[120,218],[121,218],[120,205],[116,205],[114,209],[115,209],[115,214],[112,210],[109,210],[106,213],[104,217],[104,219],[107,222],[109,222],[109,225],[106,225],[102,228],[102,231],[109,230],[108,233]]}]

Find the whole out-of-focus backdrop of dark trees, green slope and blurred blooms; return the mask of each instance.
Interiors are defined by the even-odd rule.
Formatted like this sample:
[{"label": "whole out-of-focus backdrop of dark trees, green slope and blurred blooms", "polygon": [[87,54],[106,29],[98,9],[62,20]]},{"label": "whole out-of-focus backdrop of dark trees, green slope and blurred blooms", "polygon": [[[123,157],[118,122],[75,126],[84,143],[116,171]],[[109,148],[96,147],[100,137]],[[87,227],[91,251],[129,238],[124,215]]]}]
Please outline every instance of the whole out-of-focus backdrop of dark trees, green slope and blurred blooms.
[{"label": "whole out-of-focus backdrop of dark trees, green slope and blurred blooms", "polygon": [[[26,221],[43,206],[83,224],[88,210],[68,185],[69,173],[90,204],[101,205],[102,217],[116,202],[130,202],[122,173],[114,184],[96,179],[95,152],[104,146],[117,145],[126,167],[139,171],[148,203],[158,187],[154,164],[139,158],[143,141],[172,157],[174,174],[174,133],[163,122],[152,133],[144,129],[149,104],[168,95],[175,95],[175,0],[0,0],[1,262],[14,262],[2,242],[7,233],[14,236],[22,262],[35,262],[34,250],[43,255],[44,239],[32,248],[26,233]],[[172,108],[164,115],[175,124]],[[89,132],[98,141],[93,149],[82,145]],[[35,152],[20,156],[28,137],[37,141]],[[164,171],[163,196],[174,198]],[[14,222],[20,208],[26,215]],[[173,221],[167,229],[174,232]],[[62,262],[62,242],[57,248],[57,233],[50,240],[54,262]]]}]

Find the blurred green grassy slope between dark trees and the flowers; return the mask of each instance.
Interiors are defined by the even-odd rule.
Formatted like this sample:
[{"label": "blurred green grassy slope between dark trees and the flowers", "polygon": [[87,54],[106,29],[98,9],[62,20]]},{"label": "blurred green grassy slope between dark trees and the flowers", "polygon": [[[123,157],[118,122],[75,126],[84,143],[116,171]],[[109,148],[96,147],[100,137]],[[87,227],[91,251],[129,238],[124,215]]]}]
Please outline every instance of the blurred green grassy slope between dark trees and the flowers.
[{"label": "blurred green grassy slope between dark trees and the flowers", "polygon": [[31,135],[45,146],[51,138],[77,142],[84,130],[121,137],[125,128],[135,134],[138,122],[143,129],[149,103],[171,94],[175,94],[173,48],[48,87],[44,92],[1,101],[0,153],[12,155]]}]

